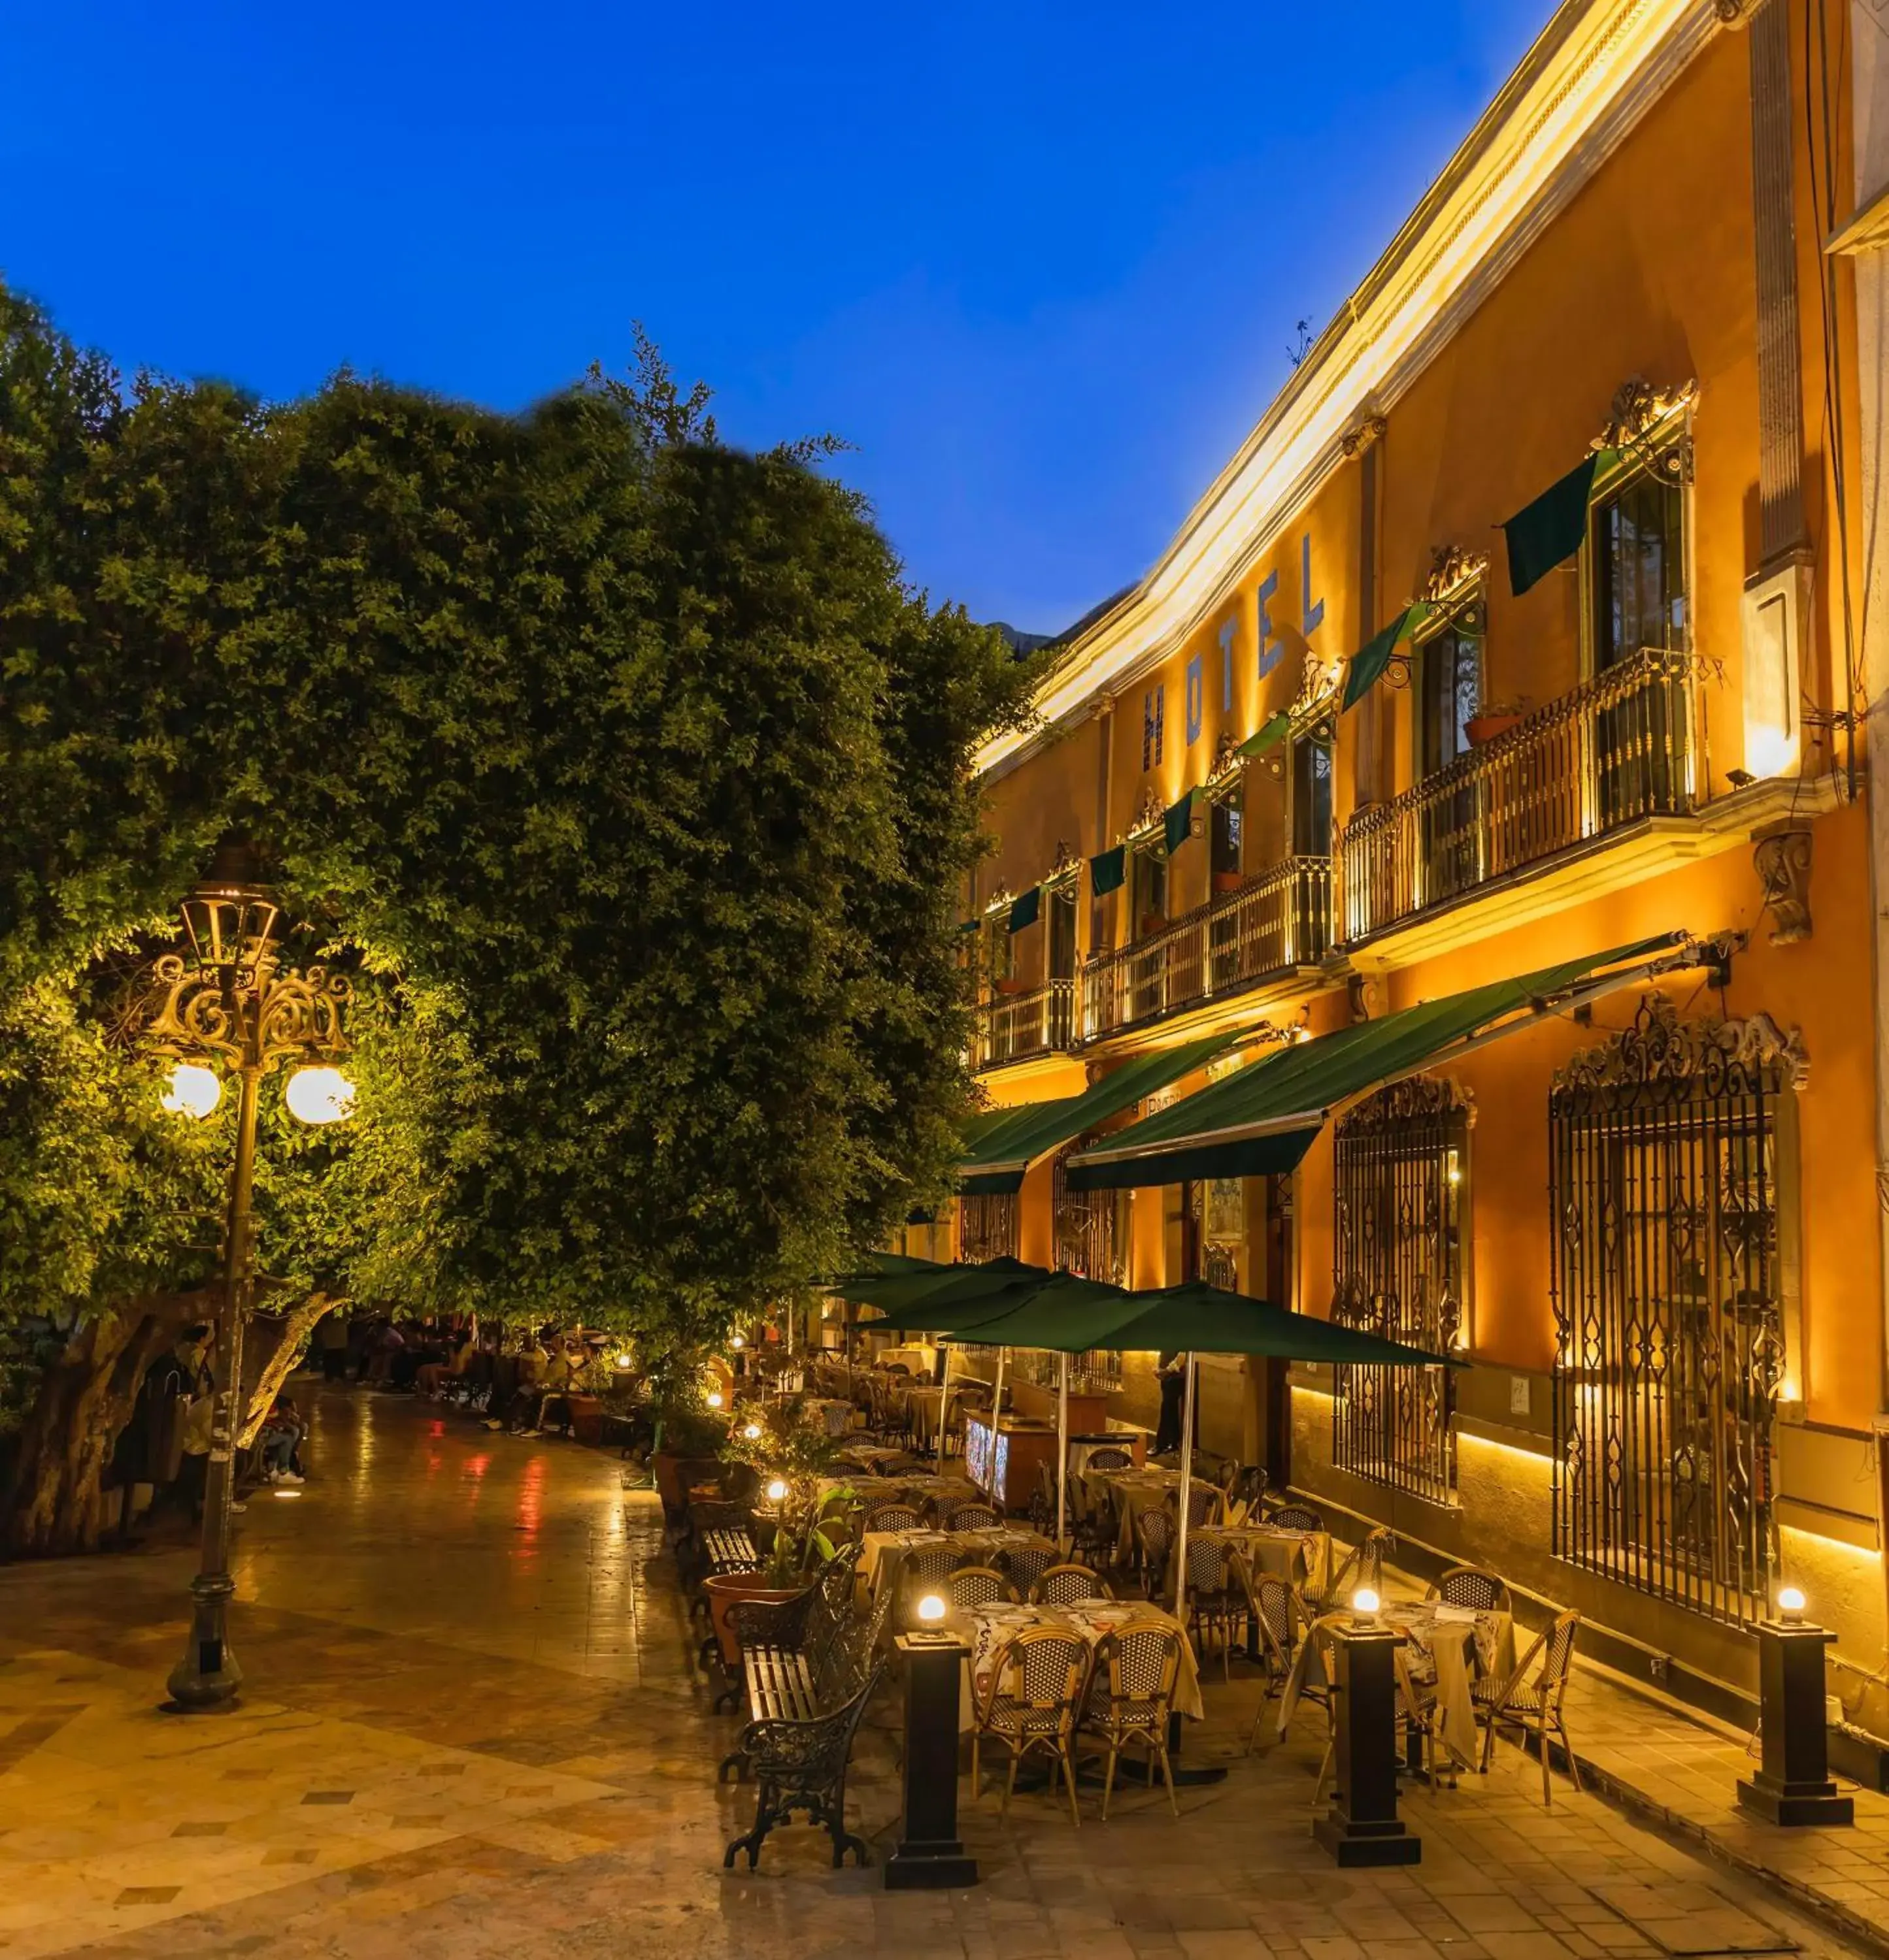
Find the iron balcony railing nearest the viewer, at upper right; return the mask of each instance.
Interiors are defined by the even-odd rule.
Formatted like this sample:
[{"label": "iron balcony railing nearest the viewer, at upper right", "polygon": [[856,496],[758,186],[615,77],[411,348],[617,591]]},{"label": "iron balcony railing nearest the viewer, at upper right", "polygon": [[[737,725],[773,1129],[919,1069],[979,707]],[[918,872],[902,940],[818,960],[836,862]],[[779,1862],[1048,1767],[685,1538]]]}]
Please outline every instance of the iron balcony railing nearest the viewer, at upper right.
[{"label": "iron balcony railing nearest the viewer, at upper right", "polygon": [[1338,841],[1344,937],[1371,939],[1650,817],[1699,808],[1691,661],[1646,649],[1395,802]]}]

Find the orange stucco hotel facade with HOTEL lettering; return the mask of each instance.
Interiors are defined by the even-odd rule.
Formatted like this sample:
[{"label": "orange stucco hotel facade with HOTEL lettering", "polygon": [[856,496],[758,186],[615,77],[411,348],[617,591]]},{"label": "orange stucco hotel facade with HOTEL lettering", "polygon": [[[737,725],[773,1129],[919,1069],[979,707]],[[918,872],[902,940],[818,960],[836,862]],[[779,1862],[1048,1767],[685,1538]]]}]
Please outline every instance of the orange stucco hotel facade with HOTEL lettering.
[{"label": "orange stucco hotel facade with HOTEL lettering", "polygon": [[[973,1062],[1000,1105],[1069,1096],[1202,1029],[1316,1037],[1661,933],[1730,951],[1724,986],[1724,970],[1681,966],[1436,1060],[1467,1125],[1452,1311],[1473,1366],[1450,1417],[1461,1448],[1452,1435],[1448,1492],[1412,1495],[1369,1464],[1336,1462],[1344,1384],[1322,1370],[1295,1370],[1289,1435],[1265,1433],[1279,1401],[1269,1417],[1257,1366],[1240,1394],[1204,1399],[1222,1413],[1220,1433],[1202,1435],[1226,1454],[1265,1450],[1314,1501],[1444,1554],[1501,1560],[1544,1597],[1573,1597],[1599,1623],[1730,1678],[1750,1672],[1738,1611],[1701,1611],[1679,1597],[1687,1586],[1620,1584],[1550,1517],[1550,1486],[1569,1474],[1573,1378],[1601,1401],[1628,1394],[1605,1368],[1577,1368],[1557,1335],[1552,1241],[1571,1172],[1550,1160],[1550,1098],[1571,1058],[1620,1037],[1656,990],[1689,1029],[1789,1041],[1791,1060],[1767,1078],[1777,1154],[1760,1178],[1777,1298],[1738,1296],[1740,1313],[1775,1329],[1775,1409],[1760,1441],[1744,1405],[1720,1427],[1736,1429],[1761,1486],[1767,1543],[1752,1584],[1807,1576],[1844,1615],[1844,1652],[1873,1668],[1871,1425],[1885,1407],[1873,878],[1869,786],[1846,723],[1846,592],[1862,545],[1836,523],[1852,459],[1828,437],[1854,357],[1826,304],[1809,190],[1832,167],[1807,149],[1801,112],[1814,24],[1803,0],[1769,4],[1787,22],[1769,43],[1744,22],[1701,25],[1710,8],[1669,6],[1669,31],[1648,29],[1642,71],[1608,82],[1612,94],[1595,78],[1599,57],[1579,67],[1579,35],[1599,35],[1608,12],[1646,10],[1556,14],[1508,108],[1477,129],[1169,557],[1057,649],[1040,731],[985,757],[991,849],[963,892],[983,927],[993,1029]],[[1787,135],[1765,139],[1754,90],[1771,84],[1760,65],[1779,45],[1793,51],[1793,110]],[[1589,122],[1544,153],[1528,118],[1550,96]],[[1773,165],[1775,145],[1789,149],[1783,196],[1775,169],[1754,171],[1761,141]],[[1842,161],[1844,133],[1832,141]],[[1499,196],[1506,229],[1485,225],[1479,257],[1450,276],[1473,214]],[[1840,278],[1832,290],[1842,296]],[[1795,367],[1775,353],[1783,323]],[[1646,386],[1634,396],[1630,382]],[[1579,549],[1518,596],[1501,525],[1595,449],[1607,455]],[[1795,502],[1779,492],[1793,480]],[[1785,588],[1795,612],[1763,612]],[[1410,637],[1346,706],[1352,657],[1412,602]],[[1781,617],[1783,641],[1754,625]],[[1438,621],[1471,653],[1436,651]],[[1473,661],[1467,727],[1434,682],[1446,657]],[[1667,678],[1628,692],[1634,661]],[[1283,739],[1236,753],[1281,715]],[[1312,751],[1330,759],[1328,811],[1308,786]],[[1191,833],[1169,851],[1146,819],[1189,790],[1202,792]],[[1100,894],[1091,860],[1118,843],[1126,882]],[[1144,855],[1161,858],[1159,904],[1138,884]],[[1299,907],[1281,927],[1255,894],[1287,857],[1310,868],[1301,896],[1279,902]],[[1046,923],[1006,931],[1012,900],[1053,878],[1073,898],[1061,953]],[[1065,990],[1063,1017],[1032,1019],[1051,986]],[[1173,1094],[1204,1086],[1197,1072]],[[1238,1203],[1224,1188],[1163,1186],[1071,1201],[1044,1158],[1010,1200],[1014,1247],[1042,1264],[1106,1256],[1112,1270],[1097,1276],[1159,1286],[1195,1276],[1202,1235],[1218,1231],[1222,1284],[1326,1315],[1352,1258],[1336,1207],[1342,1121],[1334,1109],[1289,1178],[1248,1178]],[[1059,1154],[1108,1141],[1071,1137]],[[1738,1176],[1738,1147],[1720,1137],[1710,1149],[1707,1184],[1718,1182],[1716,1196],[1701,1188],[1705,1203]],[[1187,1205],[1195,1233],[1177,1225]],[[1085,1239],[1100,1207],[1108,1233]],[[1661,1339],[1681,1350],[1681,1333]],[[1148,1407],[1132,1378],[1149,1360],[1126,1358],[1124,1409]]]}]

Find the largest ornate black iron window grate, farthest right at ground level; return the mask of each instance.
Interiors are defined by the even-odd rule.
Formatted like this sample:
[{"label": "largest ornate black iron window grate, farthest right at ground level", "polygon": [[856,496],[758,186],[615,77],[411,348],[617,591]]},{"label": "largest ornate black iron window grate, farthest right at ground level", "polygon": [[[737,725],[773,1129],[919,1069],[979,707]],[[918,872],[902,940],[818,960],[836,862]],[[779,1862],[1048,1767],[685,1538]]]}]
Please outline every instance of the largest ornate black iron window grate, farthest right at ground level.
[{"label": "largest ornate black iron window grate, farthest right at ground level", "polygon": [[1650,994],[1548,1102],[1556,1552],[1752,1625],[1777,1566],[1779,1102],[1795,1033]]}]

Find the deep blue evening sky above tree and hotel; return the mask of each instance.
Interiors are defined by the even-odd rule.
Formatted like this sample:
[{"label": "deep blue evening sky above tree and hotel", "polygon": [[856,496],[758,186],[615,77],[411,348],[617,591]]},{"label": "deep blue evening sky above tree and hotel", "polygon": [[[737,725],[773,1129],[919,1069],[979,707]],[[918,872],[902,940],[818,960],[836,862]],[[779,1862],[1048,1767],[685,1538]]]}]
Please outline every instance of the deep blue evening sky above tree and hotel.
[{"label": "deep blue evening sky above tree and hotel", "polygon": [[0,274],[124,367],[518,408],[643,319],[910,576],[1148,568],[1552,0],[0,0]]}]

